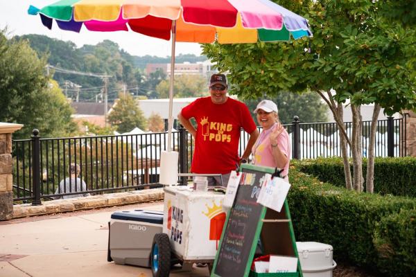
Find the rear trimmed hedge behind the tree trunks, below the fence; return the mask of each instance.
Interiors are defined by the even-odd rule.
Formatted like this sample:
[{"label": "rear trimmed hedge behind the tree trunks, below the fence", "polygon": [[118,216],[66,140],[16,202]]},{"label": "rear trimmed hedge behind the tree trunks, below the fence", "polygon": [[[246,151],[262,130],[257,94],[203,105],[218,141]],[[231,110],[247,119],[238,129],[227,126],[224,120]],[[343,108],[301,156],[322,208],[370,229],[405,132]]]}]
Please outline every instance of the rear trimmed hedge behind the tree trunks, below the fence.
[{"label": "rear trimmed hedge behind the tree trunks, below the fence", "polygon": [[[302,172],[335,186],[345,187],[343,159],[339,157],[293,161]],[[352,166],[351,166],[351,171]],[[363,159],[363,177],[367,159]],[[365,184],[364,190],[365,190]],[[376,157],[374,159],[374,193],[416,197],[416,157]]]}]

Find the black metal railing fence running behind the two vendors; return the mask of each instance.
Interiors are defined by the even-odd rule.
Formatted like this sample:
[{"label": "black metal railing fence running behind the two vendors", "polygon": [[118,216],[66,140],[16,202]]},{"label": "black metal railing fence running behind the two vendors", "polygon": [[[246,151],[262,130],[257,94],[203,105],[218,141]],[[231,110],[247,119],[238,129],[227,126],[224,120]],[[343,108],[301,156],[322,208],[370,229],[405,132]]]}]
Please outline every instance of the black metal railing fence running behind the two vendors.
[{"label": "black metal railing fence running behind the two vendors", "polygon": [[[340,156],[336,123],[293,123],[284,125],[291,136],[292,159]],[[352,123],[345,123],[351,134]],[[42,139],[33,130],[31,139],[13,140],[13,190],[15,201],[40,204],[42,199],[78,195],[80,190],[59,189],[69,177],[71,163],[80,166],[80,179],[87,184],[83,193],[100,194],[159,186],[159,159],[167,150],[167,133],[121,134]],[[363,122],[363,157],[366,157],[370,121]],[[248,134],[242,131],[239,152]],[[188,172],[193,138],[186,129],[172,133],[171,149],[180,153],[179,171]],[[378,157],[406,156],[406,117],[379,120],[375,154]],[[182,179],[181,181],[186,181]]]}]

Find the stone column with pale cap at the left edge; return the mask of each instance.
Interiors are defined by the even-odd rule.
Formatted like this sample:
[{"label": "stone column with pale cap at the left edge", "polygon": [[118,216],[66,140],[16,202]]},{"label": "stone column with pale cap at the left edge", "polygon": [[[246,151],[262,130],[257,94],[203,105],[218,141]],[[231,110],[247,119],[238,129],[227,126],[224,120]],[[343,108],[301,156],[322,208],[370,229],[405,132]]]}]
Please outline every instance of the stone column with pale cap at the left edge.
[{"label": "stone column with pale cap at the left edge", "polygon": [[13,215],[12,133],[23,125],[0,123],[0,220]]}]

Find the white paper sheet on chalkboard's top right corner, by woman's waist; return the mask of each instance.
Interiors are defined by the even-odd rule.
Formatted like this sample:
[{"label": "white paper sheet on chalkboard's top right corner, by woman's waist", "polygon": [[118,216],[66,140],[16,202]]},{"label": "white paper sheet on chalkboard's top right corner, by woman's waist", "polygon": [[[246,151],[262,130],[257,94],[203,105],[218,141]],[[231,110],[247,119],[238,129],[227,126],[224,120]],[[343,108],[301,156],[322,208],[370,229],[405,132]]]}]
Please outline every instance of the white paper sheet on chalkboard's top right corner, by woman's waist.
[{"label": "white paper sheet on chalkboard's top right corner, by woman's waist", "polygon": [[257,203],[280,213],[289,188],[291,188],[291,184],[284,181],[284,179],[273,177],[261,186]]}]

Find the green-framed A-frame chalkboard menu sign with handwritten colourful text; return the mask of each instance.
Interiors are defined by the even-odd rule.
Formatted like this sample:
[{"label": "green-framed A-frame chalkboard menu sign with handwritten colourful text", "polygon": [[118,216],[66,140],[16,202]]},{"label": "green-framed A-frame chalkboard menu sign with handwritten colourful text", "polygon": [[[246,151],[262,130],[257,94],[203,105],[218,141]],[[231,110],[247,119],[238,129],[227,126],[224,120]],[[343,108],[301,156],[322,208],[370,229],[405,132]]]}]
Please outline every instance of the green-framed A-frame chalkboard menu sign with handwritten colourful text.
[{"label": "green-framed A-frame chalkboard menu sign with handwritten colourful text", "polygon": [[[280,212],[257,203],[262,178],[272,168],[243,164],[234,204],[227,213],[211,277],[300,276],[295,235],[287,201]],[[250,270],[254,253],[297,257],[297,271],[260,274]]]}]

